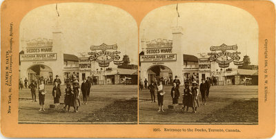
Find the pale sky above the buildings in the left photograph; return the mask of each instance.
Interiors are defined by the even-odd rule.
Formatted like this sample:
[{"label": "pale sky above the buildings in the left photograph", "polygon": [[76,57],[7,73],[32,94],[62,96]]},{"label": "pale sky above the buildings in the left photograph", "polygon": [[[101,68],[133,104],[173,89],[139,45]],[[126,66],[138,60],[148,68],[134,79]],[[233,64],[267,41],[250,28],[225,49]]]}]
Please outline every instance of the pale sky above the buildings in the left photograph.
[{"label": "pale sky above the buildings in the left photograph", "polygon": [[[98,3],[59,3],[58,12],[64,53],[79,55],[92,45],[117,44],[121,58],[128,55],[130,64],[137,64],[138,27],[128,12]],[[35,8],[22,19],[20,37],[52,39],[56,24],[56,4]]]}]

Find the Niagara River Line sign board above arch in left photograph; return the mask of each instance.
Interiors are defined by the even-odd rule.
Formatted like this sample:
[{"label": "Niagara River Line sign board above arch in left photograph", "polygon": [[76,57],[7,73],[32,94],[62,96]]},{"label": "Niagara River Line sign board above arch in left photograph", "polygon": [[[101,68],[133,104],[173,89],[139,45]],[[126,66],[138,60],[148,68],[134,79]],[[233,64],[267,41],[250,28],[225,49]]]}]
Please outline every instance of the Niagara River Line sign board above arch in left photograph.
[{"label": "Niagara River Line sign board above arch in left photograph", "polygon": [[57,53],[21,54],[20,61],[56,60]]}]

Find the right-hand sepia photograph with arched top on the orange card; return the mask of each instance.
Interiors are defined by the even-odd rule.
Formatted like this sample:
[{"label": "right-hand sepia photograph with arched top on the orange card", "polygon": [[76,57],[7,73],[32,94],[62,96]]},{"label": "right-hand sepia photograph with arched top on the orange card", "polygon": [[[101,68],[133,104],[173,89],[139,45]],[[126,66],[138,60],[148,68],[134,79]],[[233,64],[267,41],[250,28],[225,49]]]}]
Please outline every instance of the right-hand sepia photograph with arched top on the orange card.
[{"label": "right-hand sepia photograph with arched top on the orange card", "polygon": [[219,3],[177,3],[139,26],[139,124],[258,124],[259,27]]}]

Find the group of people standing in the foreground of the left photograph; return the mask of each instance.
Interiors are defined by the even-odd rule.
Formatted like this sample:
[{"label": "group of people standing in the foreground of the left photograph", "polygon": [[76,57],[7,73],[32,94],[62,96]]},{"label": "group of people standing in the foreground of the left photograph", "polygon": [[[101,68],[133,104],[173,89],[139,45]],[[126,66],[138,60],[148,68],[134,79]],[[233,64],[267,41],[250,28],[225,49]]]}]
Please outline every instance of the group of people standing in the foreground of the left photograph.
[{"label": "group of people standing in the foreground of the left photograph", "polygon": [[[54,80],[53,88],[52,88],[52,96],[54,98],[54,104],[60,103],[61,98],[61,80],[59,79],[59,76],[56,75],[56,78]],[[39,80],[38,84],[34,80],[29,84],[28,88],[31,91],[32,94],[32,102],[37,102],[36,99],[36,90],[38,88],[39,90],[39,105],[40,109],[39,111],[45,111],[44,102],[45,102],[45,94],[47,93],[45,90],[44,80]],[[79,106],[81,105],[80,102],[80,93],[83,95],[83,104],[87,104],[87,98],[90,95],[90,88],[91,88],[91,82],[89,80],[86,80],[86,78],[83,79],[83,82],[81,86],[79,86],[79,81],[75,80],[72,82],[66,83],[66,89],[65,89],[65,97],[64,97],[64,110],[66,111],[66,108],[68,107],[68,112],[70,111],[70,106],[74,107],[74,112],[78,112]]]}]

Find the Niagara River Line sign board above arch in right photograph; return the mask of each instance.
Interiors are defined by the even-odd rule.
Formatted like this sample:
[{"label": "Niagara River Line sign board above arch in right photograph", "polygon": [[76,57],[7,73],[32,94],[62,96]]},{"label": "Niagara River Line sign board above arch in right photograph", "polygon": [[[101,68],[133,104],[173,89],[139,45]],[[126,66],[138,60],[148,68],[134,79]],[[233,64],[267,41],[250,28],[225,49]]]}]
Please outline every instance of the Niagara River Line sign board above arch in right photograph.
[{"label": "Niagara River Line sign board above arch in right photograph", "polygon": [[176,61],[177,54],[164,54],[164,55],[141,55],[140,62],[164,62]]}]

